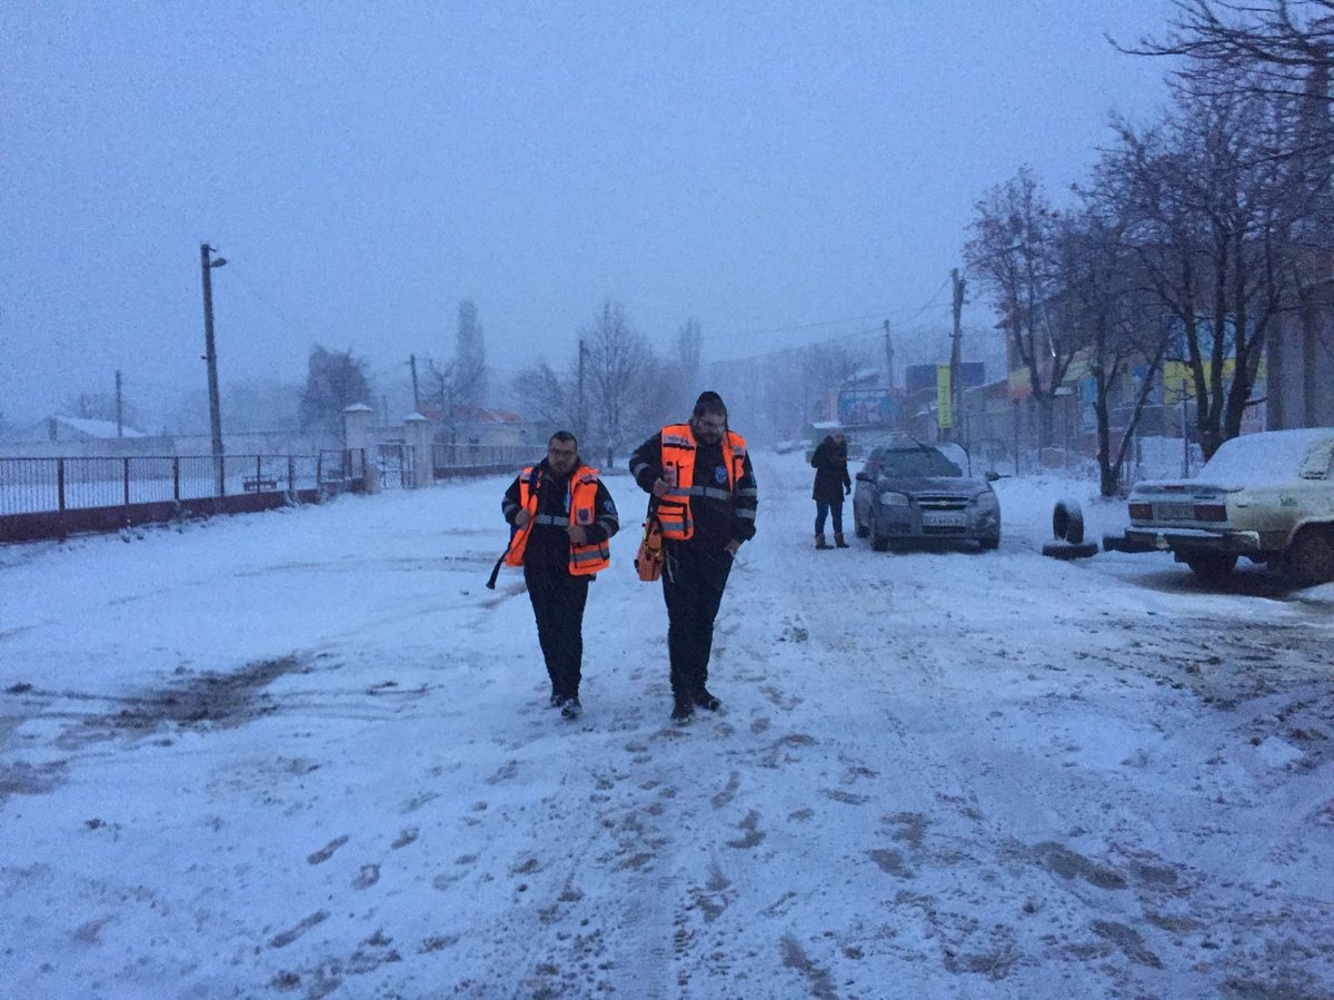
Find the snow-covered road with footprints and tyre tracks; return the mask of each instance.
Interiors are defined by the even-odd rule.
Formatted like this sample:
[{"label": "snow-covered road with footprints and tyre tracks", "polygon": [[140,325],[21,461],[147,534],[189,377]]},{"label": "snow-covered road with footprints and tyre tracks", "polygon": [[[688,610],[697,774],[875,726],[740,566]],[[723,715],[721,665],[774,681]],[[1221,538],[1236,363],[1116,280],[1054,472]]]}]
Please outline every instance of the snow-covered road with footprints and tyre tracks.
[{"label": "snow-covered road with footprints and tyre tracks", "polygon": [[1062,481],[816,553],[755,465],[687,728],[623,474],[575,724],[504,479],[0,553],[5,992],[1334,993],[1334,586],[1043,558]]}]

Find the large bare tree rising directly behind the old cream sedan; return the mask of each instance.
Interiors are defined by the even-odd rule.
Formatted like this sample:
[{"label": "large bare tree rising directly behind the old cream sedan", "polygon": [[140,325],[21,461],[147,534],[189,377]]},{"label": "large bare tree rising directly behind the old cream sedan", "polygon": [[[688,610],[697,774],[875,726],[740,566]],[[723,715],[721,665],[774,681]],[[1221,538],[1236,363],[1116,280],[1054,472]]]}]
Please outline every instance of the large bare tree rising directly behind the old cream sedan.
[{"label": "large bare tree rising directly behind the old cream sedan", "polygon": [[1179,324],[1206,457],[1241,433],[1267,335],[1289,308],[1295,234],[1313,192],[1282,155],[1295,104],[1249,88],[1178,91],[1159,130],[1118,127],[1111,158],[1131,192],[1134,242]]}]

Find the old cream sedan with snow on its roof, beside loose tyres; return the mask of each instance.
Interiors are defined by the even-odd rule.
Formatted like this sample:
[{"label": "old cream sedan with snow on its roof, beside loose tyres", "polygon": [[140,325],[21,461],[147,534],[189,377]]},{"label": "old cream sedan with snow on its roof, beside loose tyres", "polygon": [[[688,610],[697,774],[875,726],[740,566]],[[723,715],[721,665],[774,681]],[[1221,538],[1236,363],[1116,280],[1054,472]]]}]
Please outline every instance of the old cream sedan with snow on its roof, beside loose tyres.
[{"label": "old cream sedan with snow on its roof, beside loose tyres", "polygon": [[1171,551],[1205,579],[1237,557],[1298,583],[1334,579],[1334,427],[1246,434],[1225,442],[1195,479],[1137,483],[1117,551]]}]

